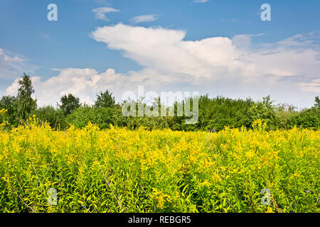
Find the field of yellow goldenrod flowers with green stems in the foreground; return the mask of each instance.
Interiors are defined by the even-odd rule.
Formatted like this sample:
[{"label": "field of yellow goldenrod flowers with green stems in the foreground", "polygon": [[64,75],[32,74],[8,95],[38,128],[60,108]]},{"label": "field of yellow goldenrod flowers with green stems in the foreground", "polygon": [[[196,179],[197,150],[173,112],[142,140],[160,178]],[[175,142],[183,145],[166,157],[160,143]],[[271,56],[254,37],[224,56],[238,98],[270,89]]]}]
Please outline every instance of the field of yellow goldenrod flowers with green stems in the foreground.
[{"label": "field of yellow goldenrod flowers with green stems in the foreground", "polygon": [[262,121],[53,131],[33,118],[0,129],[0,212],[319,212],[319,144],[320,131]]}]

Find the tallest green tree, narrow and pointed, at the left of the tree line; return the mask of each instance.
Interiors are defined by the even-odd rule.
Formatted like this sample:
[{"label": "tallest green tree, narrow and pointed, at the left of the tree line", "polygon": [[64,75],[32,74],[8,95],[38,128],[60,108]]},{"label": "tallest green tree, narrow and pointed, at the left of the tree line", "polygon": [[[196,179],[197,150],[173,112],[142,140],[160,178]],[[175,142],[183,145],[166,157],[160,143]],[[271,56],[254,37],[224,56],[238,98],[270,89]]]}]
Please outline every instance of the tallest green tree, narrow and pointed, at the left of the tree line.
[{"label": "tallest green tree, narrow and pointed, at the left of the tree line", "polygon": [[32,94],[34,89],[32,86],[31,78],[23,73],[22,79],[18,80],[18,96],[17,96],[17,111],[18,117],[20,119],[26,120],[31,114],[31,111],[35,110],[37,107],[36,99],[32,99]]}]

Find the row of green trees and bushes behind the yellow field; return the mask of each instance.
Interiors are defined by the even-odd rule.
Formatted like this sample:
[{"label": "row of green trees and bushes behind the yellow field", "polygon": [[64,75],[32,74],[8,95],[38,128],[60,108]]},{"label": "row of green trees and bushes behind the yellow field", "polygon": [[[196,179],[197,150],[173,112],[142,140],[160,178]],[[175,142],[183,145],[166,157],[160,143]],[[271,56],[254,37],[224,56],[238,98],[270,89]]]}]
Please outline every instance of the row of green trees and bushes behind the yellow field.
[{"label": "row of green trees and bushes behind the yellow field", "polygon": [[[0,109],[7,109],[8,128],[23,125],[32,116],[40,123],[48,122],[55,130],[65,130],[73,125],[82,128],[89,123],[96,123],[100,128],[110,125],[136,129],[140,126],[152,129],[171,128],[174,131],[220,131],[225,126],[230,128],[252,127],[252,122],[262,119],[267,122],[268,129],[310,128],[320,127],[320,100],[315,98],[315,104],[309,109],[298,110],[289,104],[275,105],[270,96],[262,101],[247,99],[229,99],[223,96],[210,98],[200,96],[198,100],[198,123],[186,125],[186,116],[123,116],[122,104],[116,103],[112,93],[106,90],[97,94],[95,104],[81,104],[80,99],[73,94],[60,97],[60,102],[54,106],[37,106],[31,78],[27,74],[18,80],[17,96],[2,96]],[[154,101],[161,102],[160,98]],[[137,106],[139,104],[137,103]],[[143,104],[146,105],[146,104]],[[176,110],[178,103],[173,107]]]}]

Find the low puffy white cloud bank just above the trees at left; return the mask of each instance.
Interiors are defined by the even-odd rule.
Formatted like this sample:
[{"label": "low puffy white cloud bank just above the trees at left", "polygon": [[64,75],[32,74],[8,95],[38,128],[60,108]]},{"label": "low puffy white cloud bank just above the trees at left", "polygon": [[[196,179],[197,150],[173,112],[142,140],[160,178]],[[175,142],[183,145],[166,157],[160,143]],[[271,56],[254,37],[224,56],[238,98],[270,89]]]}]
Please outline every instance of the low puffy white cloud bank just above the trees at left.
[{"label": "low puffy white cloud bank just above the trees at left", "polygon": [[[54,69],[58,70],[58,69]],[[108,69],[99,74],[92,69],[68,68],[59,70],[59,74],[42,81],[41,77],[31,77],[33,87],[36,91],[34,97],[38,106],[55,104],[64,94],[74,94],[80,97],[82,102],[93,104],[96,94],[109,89],[121,101],[124,91],[136,89],[146,79],[151,71],[128,72],[128,74],[117,74],[114,70]],[[155,85],[153,82],[149,83]],[[16,95],[18,90],[18,79],[6,89],[6,94]]]}]

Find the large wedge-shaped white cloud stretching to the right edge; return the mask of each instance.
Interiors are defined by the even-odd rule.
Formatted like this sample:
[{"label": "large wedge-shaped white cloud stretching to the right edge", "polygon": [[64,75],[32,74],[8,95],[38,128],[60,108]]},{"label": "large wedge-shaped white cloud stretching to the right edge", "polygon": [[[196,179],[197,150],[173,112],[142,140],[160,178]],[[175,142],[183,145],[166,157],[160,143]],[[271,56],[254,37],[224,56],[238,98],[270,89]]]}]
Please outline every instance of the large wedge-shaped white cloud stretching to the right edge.
[{"label": "large wedge-shaped white cloud stretching to the right edge", "polygon": [[181,87],[211,92],[204,89],[210,84],[215,89],[213,95],[272,94],[279,101],[312,104],[312,97],[319,95],[319,82],[314,80],[320,72],[320,48],[314,42],[317,33],[298,35],[295,40],[302,45],[279,42],[253,49],[251,39],[260,35],[264,34],[185,41],[185,31],[121,23],[92,32],[95,40],[122,51],[124,57],[144,66],[144,71],[152,71],[146,75],[149,82],[166,84],[168,89],[183,84]]}]

